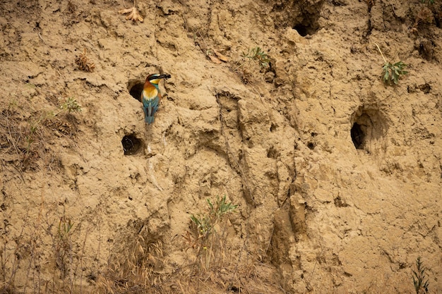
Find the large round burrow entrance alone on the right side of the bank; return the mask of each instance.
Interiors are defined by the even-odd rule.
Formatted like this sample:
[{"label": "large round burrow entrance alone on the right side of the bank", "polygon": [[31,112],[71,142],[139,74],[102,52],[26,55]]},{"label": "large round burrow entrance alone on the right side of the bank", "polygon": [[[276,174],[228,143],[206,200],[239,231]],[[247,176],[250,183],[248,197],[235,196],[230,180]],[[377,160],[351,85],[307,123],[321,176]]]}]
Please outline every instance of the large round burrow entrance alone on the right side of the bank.
[{"label": "large round burrow entrance alone on the right side of the bank", "polygon": [[374,107],[360,106],[352,114],[350,136],[356,149],[362,149],[371,154],[386,149],[386,134],[388,121]]}]

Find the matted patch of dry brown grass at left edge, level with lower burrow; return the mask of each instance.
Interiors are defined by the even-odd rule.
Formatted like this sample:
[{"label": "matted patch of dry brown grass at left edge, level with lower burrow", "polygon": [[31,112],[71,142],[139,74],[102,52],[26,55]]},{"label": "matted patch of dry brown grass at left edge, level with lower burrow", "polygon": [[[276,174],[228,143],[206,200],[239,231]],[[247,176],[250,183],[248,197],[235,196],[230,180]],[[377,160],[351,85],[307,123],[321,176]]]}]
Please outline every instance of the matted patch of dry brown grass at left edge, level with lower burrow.
[{"label": "matted patch of dry brown grass at left edge, level with lower burrow", "polygon": [[[47,92],[46,95],[54,94]],[[54,111],[37,110],[32,105],[32,94],[27,99],[23,96],[26,96],[25,92],[10,94],[9,101],[0,109],[1,160],[6,169],[13,167],[20,174],[44,167],[49,171],[59,171],[59,158],[54,152],[49,152],[47,142],[58,138],[75,145],[76,118],[69,109],[60,110],[60,105],[54,105]],[[61,105],[64,105],[63,101],[63,98],[56,98]]]}]

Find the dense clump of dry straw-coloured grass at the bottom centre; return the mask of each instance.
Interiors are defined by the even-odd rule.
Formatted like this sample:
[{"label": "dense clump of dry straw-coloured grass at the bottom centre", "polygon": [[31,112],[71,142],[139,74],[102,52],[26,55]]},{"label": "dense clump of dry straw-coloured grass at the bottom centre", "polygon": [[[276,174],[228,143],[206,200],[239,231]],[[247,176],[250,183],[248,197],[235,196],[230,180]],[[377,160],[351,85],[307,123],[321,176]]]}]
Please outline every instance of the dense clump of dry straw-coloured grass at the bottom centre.
[{"label": "dense clump of dry straw-coloured grass at the bottom centre", "polygon": [[176,239],[173,246],[184,250],[181,264],[167,262],[165,251],[170,252],[171,242],[165,245],[149,235],[147,224],[131,228],[121,235],[107,271],[97,280],[99,293],[216,293],[216,289],[227,289],[234,271],[242,271],[244,264],[251,267],[247,262],[239,265],[238,248],[233,250],[227,223],[228,219],[216,222],[207,235],[194,227],[192,233]]}]

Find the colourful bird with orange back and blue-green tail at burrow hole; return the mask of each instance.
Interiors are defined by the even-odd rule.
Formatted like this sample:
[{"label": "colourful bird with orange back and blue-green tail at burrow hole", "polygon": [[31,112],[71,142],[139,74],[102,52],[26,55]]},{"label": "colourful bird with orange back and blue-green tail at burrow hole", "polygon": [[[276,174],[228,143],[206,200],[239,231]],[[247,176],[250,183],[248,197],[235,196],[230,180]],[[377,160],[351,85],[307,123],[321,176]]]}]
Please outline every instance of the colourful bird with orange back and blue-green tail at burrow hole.
[{"label": "colourful bird with orange back and blue-green tail at burrow hole", "polygon": [[154,121],[154,114],[158,110],[161,101],[160,88],[158,83],[161,79],[168,79],[170,75],[153,73],[145,79],[143,91],[141,91],[140,102],[143,103],[144,121],[150,125]]}]

